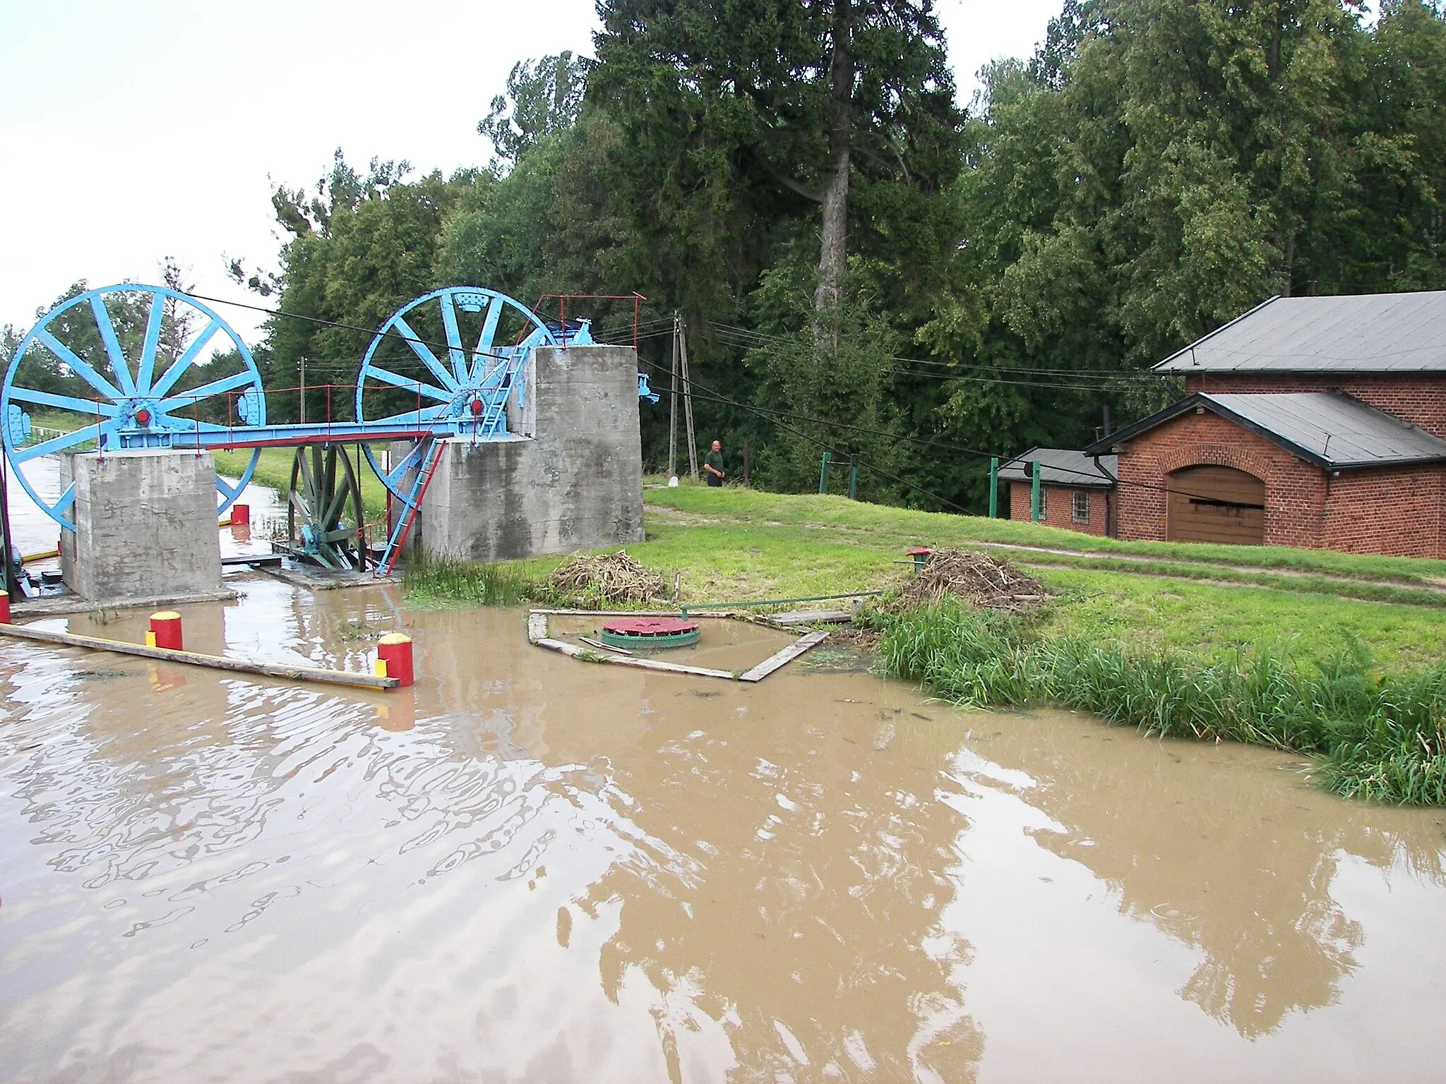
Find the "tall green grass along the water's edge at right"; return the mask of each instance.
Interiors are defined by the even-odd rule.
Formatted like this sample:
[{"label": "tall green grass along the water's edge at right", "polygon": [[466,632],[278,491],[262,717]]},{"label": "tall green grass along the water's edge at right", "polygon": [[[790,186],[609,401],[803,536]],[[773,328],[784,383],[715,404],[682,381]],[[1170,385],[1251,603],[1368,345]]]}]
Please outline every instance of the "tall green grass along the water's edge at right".
[{"label": "tall green grass along the water's edge at right", "polygon": [[1446,663],[1381,674],[1353,643],[1307,666],[1283,645],[1190,663],[951,603],[879,620],[882,669],[957,704],[1064,704],[1148,734],[1303,753],[1343,796],[1446,804]]}]

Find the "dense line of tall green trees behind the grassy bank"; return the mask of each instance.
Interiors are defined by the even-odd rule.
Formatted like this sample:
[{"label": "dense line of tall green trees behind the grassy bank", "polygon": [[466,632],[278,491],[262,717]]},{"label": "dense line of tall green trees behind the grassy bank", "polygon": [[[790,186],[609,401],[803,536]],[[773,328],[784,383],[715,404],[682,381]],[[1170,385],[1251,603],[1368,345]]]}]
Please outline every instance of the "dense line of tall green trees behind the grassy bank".
[{"label": "dense line of tall green trees behind the grassy bank", "polygon": [[[279,269],[234,267],[291,314],[272,386],[302,357],[348,382],[351,328],[438,285],[638,291],[645,370],[667,387],[681,312],[700,441],[748,438],[755,484],[811,487],[829,448],[865,496],[979,509],[986,461],[954,448],[1077,447],[1272,293],[1446,286],[1430,3],[1066,0],[967,107],[928,0],[599,9],[596,59],[513,69],[486,168],[338,156],[275,192]],[[630,338],[629,304],[589,315]],[[659,467],[665,405],[642,413]]]}]

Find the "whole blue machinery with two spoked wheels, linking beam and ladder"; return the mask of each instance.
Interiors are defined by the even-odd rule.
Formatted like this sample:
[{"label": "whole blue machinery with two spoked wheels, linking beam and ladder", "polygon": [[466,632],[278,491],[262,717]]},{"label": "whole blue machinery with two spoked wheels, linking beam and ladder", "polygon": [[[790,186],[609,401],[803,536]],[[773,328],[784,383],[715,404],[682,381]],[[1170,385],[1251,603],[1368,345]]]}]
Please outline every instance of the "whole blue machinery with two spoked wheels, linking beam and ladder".
[{"label": "whole blue machinery with two spoked wheels, linking beam and ladder", "polygon": [[[525,415],[531,353],[591,343],[587,321],[548,324],[496,291],[448,286],[376,331],[356,377],[354,421],[269,425],[256,361],[214,309],[165,286],[120,283],[58,305],[20,341],[0,389],[4,452],[30,499],[74,530],[74,484],[59,487],[54,468],[40,467],[55,452],[250,448],[236,483],[215,480],[226,510],[262,448],[357,444],[401,502],[385,572],[416,516],[438,441],[516,439],[509,415]],[[638,395],[658,402],[642,373]],[[380,441],[414,444],[383,465],[370,447]]]}]

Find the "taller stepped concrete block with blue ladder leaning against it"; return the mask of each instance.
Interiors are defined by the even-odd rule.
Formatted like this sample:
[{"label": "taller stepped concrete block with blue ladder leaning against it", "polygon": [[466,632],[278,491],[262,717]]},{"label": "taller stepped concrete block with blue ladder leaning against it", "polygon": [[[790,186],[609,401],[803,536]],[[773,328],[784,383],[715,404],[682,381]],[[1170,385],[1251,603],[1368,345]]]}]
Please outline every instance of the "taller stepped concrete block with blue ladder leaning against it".
[{"label": "taller stepped concrete block with blue ladder leaning against it", "polygon": [[447,444],[422,502],[428,555],[509,561],[642,541],[638,356],[538,350],[528,395],[531,439]]}]

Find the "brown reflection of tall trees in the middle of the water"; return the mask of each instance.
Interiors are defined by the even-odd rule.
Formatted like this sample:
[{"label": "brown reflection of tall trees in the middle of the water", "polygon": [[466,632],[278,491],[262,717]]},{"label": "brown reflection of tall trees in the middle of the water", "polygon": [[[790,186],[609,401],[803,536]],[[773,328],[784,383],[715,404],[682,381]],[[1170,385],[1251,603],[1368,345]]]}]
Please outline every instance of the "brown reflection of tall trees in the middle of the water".
[{"label": "brown reflection of tall trees in the middle of the water", "polygon": [[938,919],[964,822],[933,801],[927,763],[879,759],[897,713],[840,740],[817,684],[765,705],[643,687],[654,717],[694,728],[615,759],[632,821],[669,850],[639,850],[578,900],[623,902],[604,989],[638,968],[664,991],[674,1065],[707,1022],[752,1074],[972,1078],[982,1036],[950,980],[969,947]]}]

